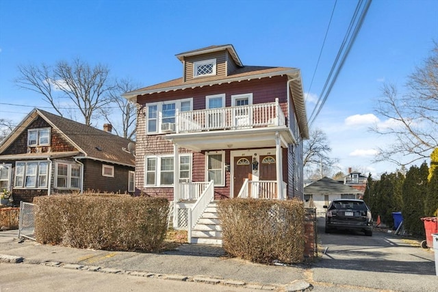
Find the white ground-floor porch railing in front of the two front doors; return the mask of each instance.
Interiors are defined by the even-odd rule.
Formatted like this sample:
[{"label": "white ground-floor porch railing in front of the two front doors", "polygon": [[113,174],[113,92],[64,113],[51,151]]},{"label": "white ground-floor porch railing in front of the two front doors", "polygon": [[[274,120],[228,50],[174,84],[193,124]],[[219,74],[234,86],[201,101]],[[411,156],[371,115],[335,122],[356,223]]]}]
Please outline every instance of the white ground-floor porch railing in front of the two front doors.
[{"label": "white ground-floor porch railing in front of the two front doors", "polygon": [[248,178],[245,179],[237,198],[283,200],[277,196],[276,181],[248,181]]}]

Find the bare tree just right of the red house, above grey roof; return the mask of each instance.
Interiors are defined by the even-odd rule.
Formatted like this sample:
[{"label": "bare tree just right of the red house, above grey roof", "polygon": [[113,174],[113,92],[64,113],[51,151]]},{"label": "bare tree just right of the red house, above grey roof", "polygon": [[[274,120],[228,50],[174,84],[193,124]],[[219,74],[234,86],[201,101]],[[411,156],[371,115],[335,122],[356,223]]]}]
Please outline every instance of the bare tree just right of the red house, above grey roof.
[{"label": "bare tree just right of the red house, above grey roof", "polygon": [[321,129],[314,129],[310,132],[310,139],[303,142],[303,166],[305,168],[316,168],[320,176],[329,176],[333,166],[339,159],[329,157],[331,147],[326,134]]}]

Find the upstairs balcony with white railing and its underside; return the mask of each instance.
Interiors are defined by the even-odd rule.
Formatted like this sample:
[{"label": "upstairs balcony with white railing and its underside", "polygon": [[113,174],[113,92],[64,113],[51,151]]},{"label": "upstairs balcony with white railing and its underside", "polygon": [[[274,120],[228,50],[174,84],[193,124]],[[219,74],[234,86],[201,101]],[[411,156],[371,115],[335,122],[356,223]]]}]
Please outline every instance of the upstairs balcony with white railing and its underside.
[{"label": "upstairs balcony with white railing and its underside", "polygon": [[296,142],[278,99],[218,109],[176,111],[175,131],[166,139],[178,147],[202,150],[281,147]]}]

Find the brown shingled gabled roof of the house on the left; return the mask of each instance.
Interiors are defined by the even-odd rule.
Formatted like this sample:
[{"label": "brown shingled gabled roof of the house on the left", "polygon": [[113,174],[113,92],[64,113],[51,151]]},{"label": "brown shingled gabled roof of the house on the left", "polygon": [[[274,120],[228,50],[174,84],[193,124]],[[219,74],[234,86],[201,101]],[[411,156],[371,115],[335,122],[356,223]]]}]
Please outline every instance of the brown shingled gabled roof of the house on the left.
[{"label": "brown shingled gabled roof of the house on the left", "polygon": [[[34,109],[18,124],[14,131],[3,140],[3,143],[0,145],[0,153],[8,148],[23,131],[27,131],[29,124],[36,120],[38,116],[44,119],[53,129],[56,129],[79,150],[79,152],[76,152],[77,158],[94,159],[120,165],[135,165],[135,157],[123,150],[128,148],[128,144],[133,143],[133,141],[87,126],[86,124],[81,124],[80,122],[75,122],[74,120],[62,118],[42,109]],[[75,152],[70,152],[70,154],[75,154]],[[40,155],[52,155],[51,157],[53,157],[55,153],[40,153]],[[12,157],[13,155],[7,156]],[[6,156],[0,157],[4,158]]]}]

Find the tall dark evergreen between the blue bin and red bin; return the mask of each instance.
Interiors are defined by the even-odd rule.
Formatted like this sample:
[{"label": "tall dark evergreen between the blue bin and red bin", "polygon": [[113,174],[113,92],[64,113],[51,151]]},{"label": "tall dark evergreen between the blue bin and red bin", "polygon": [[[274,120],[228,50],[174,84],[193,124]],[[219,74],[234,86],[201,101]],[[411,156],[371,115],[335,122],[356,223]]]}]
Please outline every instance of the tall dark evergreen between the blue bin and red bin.
[{"label": "tall dark evergreen between the blue bin and red bin", "polygon": [[424,217],[424,202],[428,191],[428,172],[426,162],[422,163],[420,168],[416,165],[411,166],[402,185],[404,228],[408,233],[419,238],[425,237],[421,218]]}]

